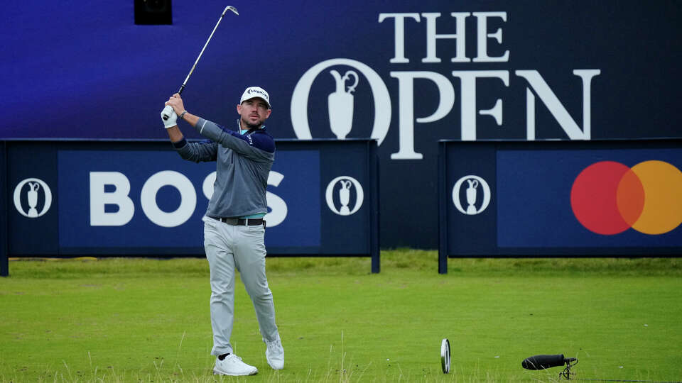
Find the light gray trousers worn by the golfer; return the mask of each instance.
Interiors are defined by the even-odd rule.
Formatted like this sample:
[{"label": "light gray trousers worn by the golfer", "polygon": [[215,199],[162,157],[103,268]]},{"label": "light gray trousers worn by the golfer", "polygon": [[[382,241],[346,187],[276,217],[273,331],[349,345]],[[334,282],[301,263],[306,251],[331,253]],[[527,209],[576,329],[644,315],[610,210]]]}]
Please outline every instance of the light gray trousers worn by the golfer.
[{"label": "light gray trousers worn by the golfer", "polygon": [[211,270],[211,354],[232,353],[229,338],[234,322],[236,271],[254,304],[261,336],[264,340],[278,339],[275,306],[265,275],[265,228],[232,226],[207,216],[203,221],[204,248]]}]

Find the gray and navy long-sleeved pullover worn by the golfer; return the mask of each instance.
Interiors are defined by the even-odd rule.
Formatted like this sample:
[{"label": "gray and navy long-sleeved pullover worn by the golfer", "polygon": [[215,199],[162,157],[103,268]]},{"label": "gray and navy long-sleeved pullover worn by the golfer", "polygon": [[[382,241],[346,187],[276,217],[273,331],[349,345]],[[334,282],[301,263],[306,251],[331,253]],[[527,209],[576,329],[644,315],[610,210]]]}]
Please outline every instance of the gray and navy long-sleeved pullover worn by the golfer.
[{"label": "gray and navy long-sleeved pullover worn by the golfer", "polygon": [[173,147],[185,160],[217,162],[206,215],[232,218],[267,213],[266,187],[275,159],[275,140],[265,126],[239,134],[199,118],[195,129],[208,140],[188,143],[183,138]]}]

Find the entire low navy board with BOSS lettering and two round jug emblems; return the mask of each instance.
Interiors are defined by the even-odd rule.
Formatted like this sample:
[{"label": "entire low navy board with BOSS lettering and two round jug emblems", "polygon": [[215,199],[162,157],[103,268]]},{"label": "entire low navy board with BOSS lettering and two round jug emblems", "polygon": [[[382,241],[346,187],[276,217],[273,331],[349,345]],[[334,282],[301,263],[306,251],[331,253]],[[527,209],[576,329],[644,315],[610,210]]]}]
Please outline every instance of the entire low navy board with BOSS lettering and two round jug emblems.
[{"label": "entire low navy board with BOSS lettering and two round jug emblems", "polygon": [[[204,254],[215,162],[182,160],[167,140],[6,145],[9,254]],[[269,255],[371,255],[379,272],[376,141],[276,146]]]}]

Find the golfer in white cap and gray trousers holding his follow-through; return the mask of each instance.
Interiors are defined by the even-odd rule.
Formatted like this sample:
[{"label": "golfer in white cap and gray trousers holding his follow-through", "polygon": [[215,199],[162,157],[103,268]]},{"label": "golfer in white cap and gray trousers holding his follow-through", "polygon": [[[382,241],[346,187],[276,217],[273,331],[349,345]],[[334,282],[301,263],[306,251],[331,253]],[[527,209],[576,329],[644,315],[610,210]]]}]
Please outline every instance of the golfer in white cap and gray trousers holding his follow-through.
[{"label": "golfer in white cap and gray trousers holding his follow-through", "polygon": [[[270,367],[284,367],[284,349],[275,324],[272,292],[265,275],[266,187],[275,154],[273,138],[266,133],[264,121],[272,112],[270,96],[262,88],[249,87],[237,105],[238,131],[229,131],[185,110],[180,94],[173,94],[166,105],[173,107],[163,121],[173,147],[185,160],[215,161],[213,195],[204,221],[204,248],[211,271],[212,355],[216,356],[214,374],[252,375],[254,366],[234,355],[229,343],[234,321],[234,278],[242,276],[265,342]],[[179,116],[179,117],[178,117]],[[188,143],[177,125],[185,120],[208,140]],[[163,120],[163,118],[162,118]]]}]

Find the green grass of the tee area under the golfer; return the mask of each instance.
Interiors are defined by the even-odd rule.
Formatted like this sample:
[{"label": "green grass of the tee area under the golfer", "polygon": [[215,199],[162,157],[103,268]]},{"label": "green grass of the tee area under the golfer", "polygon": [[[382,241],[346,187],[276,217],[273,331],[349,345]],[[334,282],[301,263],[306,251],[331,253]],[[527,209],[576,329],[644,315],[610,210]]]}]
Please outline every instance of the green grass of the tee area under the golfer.
[{"label": "green grass of the tee area under the golfer", "polygon": [[[237,287],[232,343],[254,377],[214,377],[203,259],[13,261],[0,278],[0,382],[558,382],[536,354],[578,357],[575,379],[680,381],[682,260],[465,259],[433,251],[270,258],[286,353],[266,364]],[[452,371],[440,371],[440,340]]]}]

